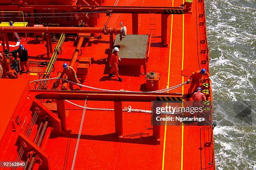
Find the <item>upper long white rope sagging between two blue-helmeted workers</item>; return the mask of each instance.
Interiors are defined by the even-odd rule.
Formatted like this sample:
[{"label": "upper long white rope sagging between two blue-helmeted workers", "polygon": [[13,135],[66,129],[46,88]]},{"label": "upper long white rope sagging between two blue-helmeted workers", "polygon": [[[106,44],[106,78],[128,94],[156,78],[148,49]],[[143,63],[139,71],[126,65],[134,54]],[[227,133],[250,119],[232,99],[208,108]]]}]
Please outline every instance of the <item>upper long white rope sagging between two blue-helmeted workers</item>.
[{"label": "upper long white rope sagging between two blue-helmeted workers", "polygon": [[[59,77],[54,77],[54,78],[51,78],[51,79],[40,79],[40,80],[33,80],[33,81],[30,81],[29,83],[33,83],[33,82],[36,82],[36,81],[46,81],[46,80],[53,80],[53,79],[61,79],[63,81],[67,81],[69,83],[73,83],[73,84],[76,84],[78,86],[83,86],[83,87],[87,87],[89,89],[95,89],[95,90],[101,90],[101,91],[111,91],[111,92],[134,92],[134,93],[141,93],[141,91],[128,91],[128,90],[123,90],[123,89],[120,89],[120,90],[109,90],[109,89],[100,89],[100,88],[96,88],[96,87],[91,87],[91,86],[85,86],[83,84],[78,84],[78,83],[75,83],[73,81],[69,81],[67,79],[62,79],[62,78],[59,78]],[[183,86],[184,84],[187,84],[187,82],[184,82],[182,84],[178,84],[176,86],[172,86],[172,87],[169,87],[169,88],[166,88],[166,89],[161,89],[161,90],[156,90],[156,91],[146,91],[146,92],[143,92],[143,93],[163,93],[163,92],[167,92],[167,91],[171,91],[171,90],[174,90],[174,89],[177,89],[181,86]]]}]

